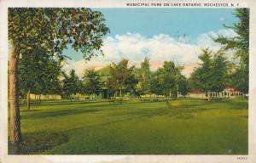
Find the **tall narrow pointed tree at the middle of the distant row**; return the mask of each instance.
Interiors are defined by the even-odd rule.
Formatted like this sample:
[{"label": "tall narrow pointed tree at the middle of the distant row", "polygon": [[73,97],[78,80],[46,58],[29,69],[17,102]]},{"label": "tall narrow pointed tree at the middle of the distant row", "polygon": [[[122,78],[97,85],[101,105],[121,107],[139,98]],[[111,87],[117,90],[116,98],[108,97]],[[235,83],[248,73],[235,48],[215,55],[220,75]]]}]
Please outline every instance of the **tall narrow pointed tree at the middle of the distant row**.
[{"label": "tall narrow pointed tree at the middle of the distant row", "polygon": [[137,91],[139,94],[150,94],[150,77],[151,71],[149,66],[149,59],[145,58],[141,63],[141,68],[138,70]]}]

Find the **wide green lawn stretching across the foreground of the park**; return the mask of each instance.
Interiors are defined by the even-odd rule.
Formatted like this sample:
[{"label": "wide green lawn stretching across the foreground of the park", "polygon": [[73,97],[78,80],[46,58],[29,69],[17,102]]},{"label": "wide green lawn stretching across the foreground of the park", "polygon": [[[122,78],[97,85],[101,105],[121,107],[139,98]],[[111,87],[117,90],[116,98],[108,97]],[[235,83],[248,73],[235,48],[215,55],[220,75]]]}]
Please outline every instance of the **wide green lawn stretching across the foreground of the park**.
[{"label": "wide green lawn stretching across the foreground of the park", "polygon": [[247,100],[21,106],[23,154],[246,155]]}]

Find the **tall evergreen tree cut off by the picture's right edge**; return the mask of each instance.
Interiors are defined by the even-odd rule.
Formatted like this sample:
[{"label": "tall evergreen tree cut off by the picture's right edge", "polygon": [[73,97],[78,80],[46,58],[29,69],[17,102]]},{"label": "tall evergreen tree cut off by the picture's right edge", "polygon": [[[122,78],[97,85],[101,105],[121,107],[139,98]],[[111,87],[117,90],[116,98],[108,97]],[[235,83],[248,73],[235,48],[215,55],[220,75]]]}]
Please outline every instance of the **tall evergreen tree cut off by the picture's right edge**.
[{"label": "tall evergreen tree cut off by the picture's right edge", "polygon": [[239,59],[239,66],[232,76],[233,87],[243,93],[248,93],[248,76],[249,76],[249,8],[236,8],[235,16],[238,22],[233,26],[224,25],[226,28],[233,29],[236,37],[224,37],[218,35],[213,38],[215,42],[223,45],[224,50],[234,49],[236,51],[235,57]]}]

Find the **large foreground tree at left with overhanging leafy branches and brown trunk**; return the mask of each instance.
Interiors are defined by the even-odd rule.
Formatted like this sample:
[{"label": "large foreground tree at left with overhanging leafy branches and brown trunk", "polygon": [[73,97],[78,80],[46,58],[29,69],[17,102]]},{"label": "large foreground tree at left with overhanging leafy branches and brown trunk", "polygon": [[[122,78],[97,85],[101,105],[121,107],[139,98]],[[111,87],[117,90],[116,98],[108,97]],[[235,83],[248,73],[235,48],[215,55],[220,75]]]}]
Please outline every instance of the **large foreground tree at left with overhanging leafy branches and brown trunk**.
[{"label": "large foreground tree at left with overhanging leafy branches and brown trunk", "polygon": [[71,44],[91,59],[102,53],[102,37],[108,32],[102,13],[89,8],[9,8],[9,103],[10,142],[20,143],[19,79],[21,55],[44,48],[63,59],[62,50]]}]

